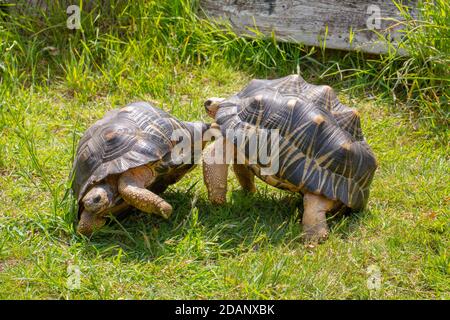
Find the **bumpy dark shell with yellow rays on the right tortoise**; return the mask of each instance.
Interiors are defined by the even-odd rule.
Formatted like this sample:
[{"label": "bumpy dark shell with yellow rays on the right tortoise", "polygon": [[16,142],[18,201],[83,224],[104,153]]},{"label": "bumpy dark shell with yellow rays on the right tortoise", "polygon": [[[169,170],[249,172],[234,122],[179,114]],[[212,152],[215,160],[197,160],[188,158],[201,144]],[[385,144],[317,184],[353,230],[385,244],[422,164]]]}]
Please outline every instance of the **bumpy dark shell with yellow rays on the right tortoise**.
[{"label": "bumpy dark shell with yellow rays on the right tortoise", "polygon": [[[264,176],[259,162],[248,165],[269,184],[321,194],[355,210],[365,207],[375,156],[362,135],[358,112],[340,103],[329,86],[309,84],[297,75],[252,80],[220,103],[216,122],[224,136],[230,129],[278,129],[277,172]],[[247,145],[233,143],[248,159]]]}]

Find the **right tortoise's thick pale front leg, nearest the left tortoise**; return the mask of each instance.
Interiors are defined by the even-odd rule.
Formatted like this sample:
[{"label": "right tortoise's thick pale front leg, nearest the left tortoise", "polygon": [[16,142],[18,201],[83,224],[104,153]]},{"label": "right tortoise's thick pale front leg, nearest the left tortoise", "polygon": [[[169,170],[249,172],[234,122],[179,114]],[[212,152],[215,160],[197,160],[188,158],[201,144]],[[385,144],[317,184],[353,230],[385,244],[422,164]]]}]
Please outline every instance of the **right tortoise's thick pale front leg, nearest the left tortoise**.
[{"label": "right tortoise's thick pale front leg, nearest the left tortoise", "polygon": [[[223,154],[216,157],[216,152],[220,150],[219,143],[223,146]],[[226,202],[228,163],[225,157],[225,145],[223,141],[216,140],[203,153],[203,180],[208,189],[208,198],[214,204]]]}]

